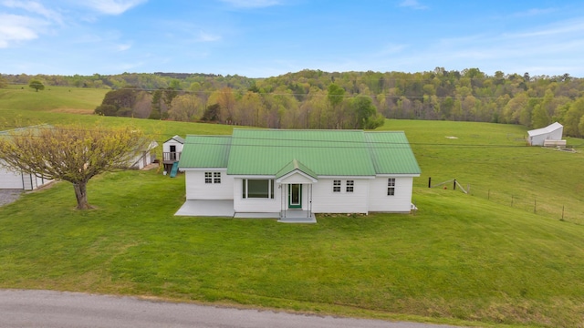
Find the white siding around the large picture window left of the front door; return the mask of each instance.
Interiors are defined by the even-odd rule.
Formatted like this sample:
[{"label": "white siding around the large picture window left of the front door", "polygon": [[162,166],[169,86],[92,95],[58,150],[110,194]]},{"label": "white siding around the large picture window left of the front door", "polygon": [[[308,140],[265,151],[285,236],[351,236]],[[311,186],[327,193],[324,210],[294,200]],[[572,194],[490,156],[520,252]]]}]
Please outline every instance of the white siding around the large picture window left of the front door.
[{"label": "white siding around the large picture window left of the front door", "polygon": [[[234,181],[232,197],[234,200],[234,210],[240,213],[278,213],[281,207],[281,189],[274,182],[274,200],[258,200],[243,198],[243,184],[241,178]],[[304,197],[304,196],[303,196]]]}]

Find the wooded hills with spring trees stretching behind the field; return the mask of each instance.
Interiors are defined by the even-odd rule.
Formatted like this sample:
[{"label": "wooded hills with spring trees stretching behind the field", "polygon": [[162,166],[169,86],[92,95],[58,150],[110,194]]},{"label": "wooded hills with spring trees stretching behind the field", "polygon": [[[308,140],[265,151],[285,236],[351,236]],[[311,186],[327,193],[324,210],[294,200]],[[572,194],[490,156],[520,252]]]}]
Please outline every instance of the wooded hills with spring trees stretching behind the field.
[{"label": "wooded hills with spring trees stretching behind the field", "polygon": [[212,121],[266,128],[376,128],[383,118],[521,124],[554,121],[584,137],[584,79],[489,76],[478,68],[436,67],[421,73],[324,72],[305,69],[249,78],[188,73],[102,76],[3,75],[47,86],[111,88],[96,113],[109,116]]}]

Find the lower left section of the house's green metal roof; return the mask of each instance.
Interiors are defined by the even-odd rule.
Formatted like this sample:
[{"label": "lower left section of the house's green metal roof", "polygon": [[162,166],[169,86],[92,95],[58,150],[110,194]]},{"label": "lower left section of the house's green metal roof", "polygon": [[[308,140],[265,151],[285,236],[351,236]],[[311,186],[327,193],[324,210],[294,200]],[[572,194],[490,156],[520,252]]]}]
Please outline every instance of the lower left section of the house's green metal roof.
[{"label": "lower left section of the house's green metal roof", "polygon": [[186,136],[179,168],[226,168],[231,136]]}]

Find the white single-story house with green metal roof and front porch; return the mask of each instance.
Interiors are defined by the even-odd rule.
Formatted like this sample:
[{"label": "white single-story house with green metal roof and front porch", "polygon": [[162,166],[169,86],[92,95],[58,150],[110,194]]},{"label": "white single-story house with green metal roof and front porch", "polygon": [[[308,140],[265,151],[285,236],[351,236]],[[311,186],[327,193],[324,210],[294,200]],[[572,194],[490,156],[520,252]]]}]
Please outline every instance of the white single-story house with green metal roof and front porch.
[{"label": "white single-story house with green metal roof and front porch", "polygon": [[187,136],[176,215],[275,217],[410,212],[421,170],[403,132],[238,129]]}]

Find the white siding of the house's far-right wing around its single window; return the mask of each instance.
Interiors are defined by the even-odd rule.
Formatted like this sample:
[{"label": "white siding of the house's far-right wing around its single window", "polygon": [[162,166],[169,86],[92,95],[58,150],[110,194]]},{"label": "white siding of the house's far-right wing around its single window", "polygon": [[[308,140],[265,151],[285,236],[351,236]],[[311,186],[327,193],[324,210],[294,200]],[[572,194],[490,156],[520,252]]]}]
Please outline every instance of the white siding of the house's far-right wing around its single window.
[{"label": "white siding of the house's far-right wing around its single window", "polygon": [[412,183],[410,177],[395,177],[395,194],[387,195],[387,183],[391,177],[370,180],[369,210],[381,212],[410,212]]}]

